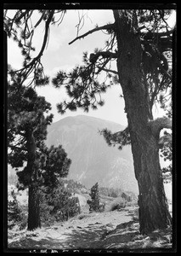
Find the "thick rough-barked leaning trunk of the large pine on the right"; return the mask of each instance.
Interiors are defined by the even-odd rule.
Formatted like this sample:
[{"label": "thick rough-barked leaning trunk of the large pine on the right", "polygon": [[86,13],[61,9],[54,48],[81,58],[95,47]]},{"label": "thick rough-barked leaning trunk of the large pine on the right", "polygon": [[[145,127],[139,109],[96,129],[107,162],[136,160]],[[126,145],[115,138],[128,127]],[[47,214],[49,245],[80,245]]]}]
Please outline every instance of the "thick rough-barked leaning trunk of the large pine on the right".
[{"label": "thick rough-barked leaning trunk of the large pine on the right", "polygon": [[[139,183],[140,232],[167,228],[171,224],[165,195],[158,142],[150,129],[148,89],[142,72],[142,49],[133,30],[133,19],[114,10],[118,44],[117,69],[125,99],[135,176]],[[132,17],[133,18],[133,17]]]}]

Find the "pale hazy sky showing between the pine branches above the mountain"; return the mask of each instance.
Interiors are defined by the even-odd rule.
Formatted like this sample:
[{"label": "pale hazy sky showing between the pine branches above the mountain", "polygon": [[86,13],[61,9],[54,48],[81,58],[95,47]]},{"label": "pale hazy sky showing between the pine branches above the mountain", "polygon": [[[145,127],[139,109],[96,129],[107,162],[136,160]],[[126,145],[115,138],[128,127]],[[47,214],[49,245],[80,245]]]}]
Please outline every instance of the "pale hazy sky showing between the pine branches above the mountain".
[{"label": "pale hazy sky showing between the pine branches above the mountain", "polygon": [[[83,10],[83,13],[85,14],[85,19],[82,30],[79,32],[80,35],[93,29],[96,24],[103,26],[108,22],[114,22],[111,10]],[[79,14],[82,15],[82,10],[79,10]],[[174,19],[173,17],[171,22],[174,22]],[[77,23],[78,11],[68,10],[59,26],[51,26],[48,47],[42,55],[44,73],[50,76],[50,81],[59,70],[70,70],[76,64],[82,64],[82,52],[88,51],[89,55],[93,52],[93,49],[104,48],[105,46],[107,35],[104,32],[94,32],[88,35],[88,37],[69,45],[69,42],[76,38]],[[36,53],[42,45],[43,32],[44,26],[40,26],[37,32],[35,32],[33,45],[37,49]],[[21,67],[22,64],[20,49],[11,39],[8,40],[8,63],[15,68]],[[65,90],[55,89],[51,83],[38,88],[37,93],[45,96],[46,100],[52,104],[51,113],[54,113],[54,122],[67,116],[85,114],[114,121],[121,125],[127,125],[127,117],[124,113],[124,100],[120,97],[122,93],[121,85],[116,84],[108,89],[103,96],[105,105],[97,110],[90,110],[89,113],[85,113],[80,109],[76,112],[67,110],[64,115],[57,113],[56,104],[65,100],[67,96]],[[161,116],[163,113],[159,111],[155,112],[155,115]]]}]

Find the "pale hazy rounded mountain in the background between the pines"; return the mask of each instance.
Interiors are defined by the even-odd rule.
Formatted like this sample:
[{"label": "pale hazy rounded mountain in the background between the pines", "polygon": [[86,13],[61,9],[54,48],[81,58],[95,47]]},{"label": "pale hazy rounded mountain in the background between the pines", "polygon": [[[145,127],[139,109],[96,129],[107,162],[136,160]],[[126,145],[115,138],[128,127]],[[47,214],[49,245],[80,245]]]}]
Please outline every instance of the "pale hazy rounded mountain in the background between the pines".
[{"label": "pale hazy rounded mountain in the background between the pines", "polygon": [[66,117],[48,125],[46,144],[65,148],[71,159],[68,178],[87,188],[96,182],[101,187],[122,188],[138,193],[138,183],[133,172],[131,147],[122,150],[109,147],[99,130],[122,131],[125,127],[104,119],[77,115]]}]

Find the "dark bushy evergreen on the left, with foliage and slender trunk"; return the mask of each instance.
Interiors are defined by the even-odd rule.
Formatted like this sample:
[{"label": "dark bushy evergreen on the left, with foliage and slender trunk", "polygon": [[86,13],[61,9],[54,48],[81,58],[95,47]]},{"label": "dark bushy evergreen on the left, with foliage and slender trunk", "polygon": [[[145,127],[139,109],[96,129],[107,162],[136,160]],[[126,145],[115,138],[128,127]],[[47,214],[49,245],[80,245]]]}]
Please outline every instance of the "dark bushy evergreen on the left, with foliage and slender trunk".
[{"label": "dark bushy evergreen on the left, with foliage and slender trunk", "polygon": [[71,160],[61,146],[47,148],[43,143],[53,118],[44,116],[50,104],[32,88],[21,85],[17,90],[15,82],[8,84],[8,163],[17,169],[26,163],[17,172],[18,187],[29,190],[28,229],[33,230],[41,226],[39,189],[56,187],[59,177],[68,174]]}]

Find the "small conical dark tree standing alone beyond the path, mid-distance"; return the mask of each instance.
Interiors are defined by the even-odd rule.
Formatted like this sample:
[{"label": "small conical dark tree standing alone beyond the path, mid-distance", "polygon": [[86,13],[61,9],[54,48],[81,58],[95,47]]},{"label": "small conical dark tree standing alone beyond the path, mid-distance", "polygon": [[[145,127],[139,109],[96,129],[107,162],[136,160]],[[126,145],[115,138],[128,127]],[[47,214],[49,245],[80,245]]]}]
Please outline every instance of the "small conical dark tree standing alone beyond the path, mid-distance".
[{"label": "small conical dark tree standing alone beyond the path, mid-distance", "polygon": [[100,197],[99,197],[99,185],[98,183],[95,183],[93,187],[91,188],[91,193],[89,194],[91,197],[91,200],[88,200],[88,205],[89,205],[89,211],[95,211],[99,212],[100,208]]}]

